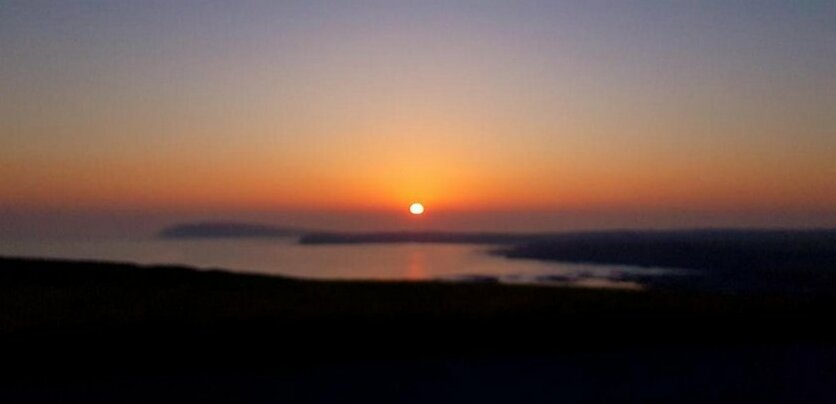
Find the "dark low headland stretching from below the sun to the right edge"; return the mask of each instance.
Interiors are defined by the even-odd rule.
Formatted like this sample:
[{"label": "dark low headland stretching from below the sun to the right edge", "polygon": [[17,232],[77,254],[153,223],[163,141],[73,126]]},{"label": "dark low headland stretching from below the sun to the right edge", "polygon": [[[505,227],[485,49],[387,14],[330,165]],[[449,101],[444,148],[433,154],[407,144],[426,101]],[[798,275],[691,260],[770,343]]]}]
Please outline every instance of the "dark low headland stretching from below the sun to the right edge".
[{"label": "dark low headland stretching from below the sun to the right edge", "polygon": [[302,244],[492,244],[511,259],[682,269],[622,280],[651,288],[836,293],[834,230],[680,230],[583,233],[379,232],[306,234]]}]

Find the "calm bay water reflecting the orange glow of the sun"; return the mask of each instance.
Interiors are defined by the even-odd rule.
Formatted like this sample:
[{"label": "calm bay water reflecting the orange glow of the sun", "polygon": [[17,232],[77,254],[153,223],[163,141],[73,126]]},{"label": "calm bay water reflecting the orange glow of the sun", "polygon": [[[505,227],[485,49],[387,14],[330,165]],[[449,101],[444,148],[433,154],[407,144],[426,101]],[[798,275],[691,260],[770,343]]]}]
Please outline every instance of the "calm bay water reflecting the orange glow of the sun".
[{"label": "calm bay water reflecting the orange glow of the sun", "polygon": [[627,273],[653,268],[511,260],[452,244],[299,245],[292,239],[0,240],[0,255],[179,264],[319,279],[479,280],[638,288]]}]

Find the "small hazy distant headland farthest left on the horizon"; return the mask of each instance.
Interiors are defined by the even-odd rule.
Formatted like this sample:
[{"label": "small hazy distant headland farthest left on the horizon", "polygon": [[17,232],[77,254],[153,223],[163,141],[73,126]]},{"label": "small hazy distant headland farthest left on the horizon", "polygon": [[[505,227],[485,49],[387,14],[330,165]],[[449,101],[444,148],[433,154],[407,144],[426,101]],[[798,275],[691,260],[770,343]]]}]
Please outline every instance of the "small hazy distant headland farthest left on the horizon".
[{"label": "small hazy distant headland farthest left on the horizon", "polygon": [[184,223],[163,229],[161,238],[282,238],[297,237],[305,231],[250,223]]}]

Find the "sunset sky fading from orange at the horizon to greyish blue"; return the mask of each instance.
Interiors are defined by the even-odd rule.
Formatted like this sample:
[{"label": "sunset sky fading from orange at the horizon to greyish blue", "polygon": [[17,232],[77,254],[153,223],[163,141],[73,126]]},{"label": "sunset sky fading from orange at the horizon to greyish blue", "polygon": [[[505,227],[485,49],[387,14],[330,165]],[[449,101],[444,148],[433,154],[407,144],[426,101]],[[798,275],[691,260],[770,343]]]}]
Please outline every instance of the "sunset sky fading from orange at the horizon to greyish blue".
[{"label": "sunset sky fading from orange at the horizon to greyish blue", "polygon": [[0,0],[0,233],[836,226],[834,111],[833,1]]}]

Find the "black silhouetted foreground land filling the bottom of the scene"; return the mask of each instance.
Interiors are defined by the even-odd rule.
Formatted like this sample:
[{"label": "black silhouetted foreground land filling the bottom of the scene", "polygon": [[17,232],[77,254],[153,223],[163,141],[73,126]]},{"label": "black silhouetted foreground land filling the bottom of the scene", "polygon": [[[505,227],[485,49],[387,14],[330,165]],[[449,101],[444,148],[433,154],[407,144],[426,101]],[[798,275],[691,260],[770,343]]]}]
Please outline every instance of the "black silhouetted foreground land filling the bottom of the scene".
[{"label": "black silhouetted foreground land filling the bottom of the scene", "polygon": [[[828,400],[836,297],[0,259],[0,399]],[[0,400],[2,401],[2,400]]]}]

